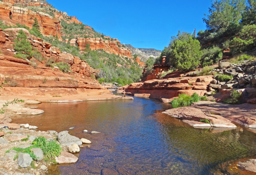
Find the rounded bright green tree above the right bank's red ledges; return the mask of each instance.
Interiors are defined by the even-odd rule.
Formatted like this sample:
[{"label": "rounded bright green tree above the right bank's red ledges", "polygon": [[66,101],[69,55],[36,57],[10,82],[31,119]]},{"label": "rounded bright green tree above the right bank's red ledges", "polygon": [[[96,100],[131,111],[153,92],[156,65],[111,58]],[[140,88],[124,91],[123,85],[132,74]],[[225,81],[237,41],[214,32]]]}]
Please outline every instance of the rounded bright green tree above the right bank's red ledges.
[{"label": "rounded bright green tree above the right bank's red ledges", "polygon": [[190,36],[188,39],[175,40],[171,46],[172,59],[180,71],[195,69],[202,57],[200,42]]}]

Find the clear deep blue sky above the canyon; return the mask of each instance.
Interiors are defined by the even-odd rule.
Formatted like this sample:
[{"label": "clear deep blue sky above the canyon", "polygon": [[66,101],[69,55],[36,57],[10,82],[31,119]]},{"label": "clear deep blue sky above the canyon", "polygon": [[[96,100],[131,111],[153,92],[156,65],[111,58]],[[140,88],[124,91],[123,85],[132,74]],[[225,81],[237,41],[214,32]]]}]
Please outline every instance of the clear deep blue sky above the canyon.
[{"label": "clear deep blue sky above the canyon", "polygon": [[211,0],[47,0],[97,32],[136,48],[163,50],[178,31],[205,30]]}]

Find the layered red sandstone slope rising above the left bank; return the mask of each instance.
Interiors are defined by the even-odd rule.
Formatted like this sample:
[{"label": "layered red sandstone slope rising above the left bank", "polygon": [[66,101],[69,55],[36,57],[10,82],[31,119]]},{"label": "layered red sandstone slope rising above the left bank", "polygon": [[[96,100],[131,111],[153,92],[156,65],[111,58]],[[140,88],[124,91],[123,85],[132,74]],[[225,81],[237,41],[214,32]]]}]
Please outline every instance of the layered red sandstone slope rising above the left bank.
[{"label": "layered red sandstone slope rising above the left bank", "polygon": [[[13,57],[15,55],[13,40],[17,37],[18,31],[23,30],[32,46],[41,53],[46,60],[41,61],[37,69],[30,66],[31,62]],[[0,49],[3,56],[0,56],[0,82],[7,80],[5,86],[35,87],[35,88],[89,88],[102,89],[103,87],[90,76],[96,74],[88,63],[74,57],[71,54],[61,52],[59,48],[53,47],[50,43],[43,42],[29,34],[29,31],[21,28],[10,28],[0,30]],[[35,60],[35,58],[32,58]],[[30,59],[30,60],[32,60]],[[56,63],[62,61],[70,64],[69,74],[58,70],[58,67],[51,69],[45,67],[48,59]]]}]

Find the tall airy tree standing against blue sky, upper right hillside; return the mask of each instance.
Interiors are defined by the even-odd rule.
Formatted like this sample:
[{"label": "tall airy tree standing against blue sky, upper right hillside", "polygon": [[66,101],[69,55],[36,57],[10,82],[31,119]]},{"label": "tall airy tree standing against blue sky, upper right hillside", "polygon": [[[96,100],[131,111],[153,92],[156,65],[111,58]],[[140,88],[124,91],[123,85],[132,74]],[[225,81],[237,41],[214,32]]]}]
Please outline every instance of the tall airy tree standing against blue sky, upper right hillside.
[{"label": "tall airy tree standing against blue sky, upper right hillside", "polygon": [[216,32],[226,30],[233,25],[239,25],[245,9],[245,0],[214,0],[209,15],[203,18],[207,29]]}]

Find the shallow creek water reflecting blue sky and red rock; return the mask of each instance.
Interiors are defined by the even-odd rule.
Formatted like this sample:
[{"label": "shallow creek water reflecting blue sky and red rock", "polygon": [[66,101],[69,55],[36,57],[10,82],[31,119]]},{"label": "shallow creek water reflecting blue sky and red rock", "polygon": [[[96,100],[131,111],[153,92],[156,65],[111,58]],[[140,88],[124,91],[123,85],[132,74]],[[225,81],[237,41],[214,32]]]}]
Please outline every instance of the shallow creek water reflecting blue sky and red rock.
[{"label": "shallow creek water reflecting blue sky and red rock", "polygon": [[[195,129],[161,114],[169,104],[156,100],[42,103],[37,116],[17,116],[38,130],[68,130],[92,141],[76,154],[76,164],[49,167],[49,174],[211,174],[224,173],[223,164],[256,155],[256,134],[237,129]],[[33,122],[33,123],[31,123]],[[69,130],[74,126],[75,129]],[[88,133],[83,132],[84,129]],[[102,132],[90,134],[91,131]]]}]

